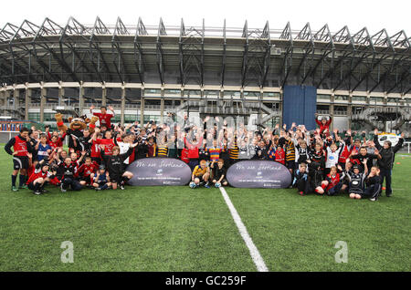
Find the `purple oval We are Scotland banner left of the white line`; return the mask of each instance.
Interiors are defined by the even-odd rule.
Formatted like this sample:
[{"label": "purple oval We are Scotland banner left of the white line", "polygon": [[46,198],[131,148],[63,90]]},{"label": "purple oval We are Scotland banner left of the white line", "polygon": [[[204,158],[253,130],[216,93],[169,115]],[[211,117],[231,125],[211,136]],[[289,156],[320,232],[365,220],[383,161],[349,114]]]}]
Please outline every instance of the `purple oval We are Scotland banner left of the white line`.
[{"label": "purple oval We are Scotland banner left of the white line", "polygon": [[143,158],[127,167],[132,172],[129,184],[134,186],[186,185],[191,181],[191,170],[184,161],[173,158]]}]

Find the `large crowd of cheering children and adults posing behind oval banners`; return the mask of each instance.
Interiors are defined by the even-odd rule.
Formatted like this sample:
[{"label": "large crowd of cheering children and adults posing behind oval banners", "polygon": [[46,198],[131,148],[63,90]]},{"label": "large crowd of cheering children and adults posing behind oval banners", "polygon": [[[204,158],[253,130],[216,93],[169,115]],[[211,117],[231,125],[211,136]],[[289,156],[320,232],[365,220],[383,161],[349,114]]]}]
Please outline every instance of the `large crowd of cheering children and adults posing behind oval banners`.
[{"label": "large crowd of cheering children and adults posing behind oval banners", "polygon": [[[227,186],[227,169],[237,161],[276,161],[292,174],[292,187],[300,195],[335,195],[347,192],[352,199],[378,199],[385,181],[385,194],[391,196],[391,174],[395,152],[404,142],[404,133],[395,146],[386,140],[381,146],[378,131],[374,139],[355,138],[357,132],[330,130],[331,118],[317,119],[318,129],[303,125],[276,125],[274,129],[248,131],[246,126],[232,128],[227,122],[211,128],[195,126],[184,117],[184,125],[154,121],[122,127],[112,125],[114,113],[106,107],[90,113],[100,127],[82,129],[80,134],[22,128],[5,145],[13,155],[12,190],[28,188],[35,194],[47,192],[47,183],[61,192],[92,188],[97,191],[124,189],[132,179],[127,166],[148,157],[178,158],[192,170],[191,188]],[[110,108],[111,111],[112,108]],[[216,118],[216,121],[219,121]],[[68,139],[68,150],[63,148]],[[16,179],[19,175],[19,187]]]}]

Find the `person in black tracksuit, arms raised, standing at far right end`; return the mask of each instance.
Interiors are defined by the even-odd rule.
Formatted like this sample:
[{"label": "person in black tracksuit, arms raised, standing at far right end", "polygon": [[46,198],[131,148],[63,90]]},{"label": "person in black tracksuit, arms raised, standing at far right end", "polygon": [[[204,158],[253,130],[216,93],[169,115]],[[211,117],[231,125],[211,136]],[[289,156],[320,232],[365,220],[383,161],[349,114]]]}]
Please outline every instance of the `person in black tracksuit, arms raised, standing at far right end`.
[{"label": "person in black tracksuit, arms raised, standing at far right end", "polygon": [[401,133],[401,138],[393,148],[391,141],[386,140],[384,146],[381,146],[378,142],[378,130],[374,129],[374,143],[377,150],[379,150],[381,159],[378,159],[377,164],[380,168],[381,185],[383,185],[385,179],[385,194],[391,196],[393,190],[391,188],[391,174],[394,166],[395,153],[400,150],[404,143],[404,133]]}]

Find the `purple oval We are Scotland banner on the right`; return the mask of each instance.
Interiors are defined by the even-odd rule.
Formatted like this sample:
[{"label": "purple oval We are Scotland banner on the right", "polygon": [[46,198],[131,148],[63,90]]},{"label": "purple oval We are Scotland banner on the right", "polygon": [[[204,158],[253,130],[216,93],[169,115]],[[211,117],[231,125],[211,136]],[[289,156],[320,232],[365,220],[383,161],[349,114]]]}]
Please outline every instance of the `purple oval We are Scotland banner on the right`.
[{"label": "purple oval We are Scotland banner on the right", "polygon": [[240,188],[288,188],[291,173],[275,161],[239,161],[228,168],[227,181]]}]

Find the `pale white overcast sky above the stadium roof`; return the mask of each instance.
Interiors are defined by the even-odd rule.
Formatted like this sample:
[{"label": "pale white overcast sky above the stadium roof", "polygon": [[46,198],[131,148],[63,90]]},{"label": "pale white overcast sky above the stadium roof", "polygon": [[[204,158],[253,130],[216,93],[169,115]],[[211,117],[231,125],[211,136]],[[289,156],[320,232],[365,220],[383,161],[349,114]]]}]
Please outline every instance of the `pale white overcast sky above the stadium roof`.
[{"label": "pale white overcast sky above the stadium roof", "polygon": [[80,23],[92,25],[96,16],[106,25],[114,25],[118,16],[125,25],[136,25],[139,16],[144,25],[157,26],[163,17],[165,26],[243,27],[246,19],[249,28],[263,28],[269,20],[270,29],[283,29],[290,21],[292,30],[300,30],[310,22],[313,31],[328,24],[332,32],[348,26],[351,34],[368,28],[371,35],[385,28],[389,36],[405,30],[411,36],[411,1],[381,0],[18,0],[3,4],[0,27],[7,22],[20,26],[24,19],[41,25],[49,17],[60,26],[66,25],[69,16]]}]

